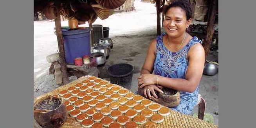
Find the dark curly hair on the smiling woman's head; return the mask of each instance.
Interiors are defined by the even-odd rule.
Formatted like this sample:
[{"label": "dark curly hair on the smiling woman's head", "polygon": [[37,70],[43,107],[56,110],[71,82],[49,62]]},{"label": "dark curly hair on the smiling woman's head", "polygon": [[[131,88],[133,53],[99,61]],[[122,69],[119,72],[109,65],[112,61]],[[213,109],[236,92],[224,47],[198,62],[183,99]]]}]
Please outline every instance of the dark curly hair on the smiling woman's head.
[{"label": "dark curly hair on the smiling woman's head", "polygon": [[176,0],[175,2],[172,2],[171,4],[169,4],[166,7],[164,14],[166,14],[167,11],[171,7],[180,7],[180,8],[182,8],[186,12],[187,20],[189,20],[192,17],[192,9],[191,9],[190,3],[187,2],[186,0]]}]

